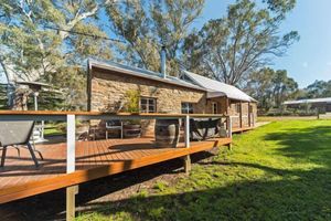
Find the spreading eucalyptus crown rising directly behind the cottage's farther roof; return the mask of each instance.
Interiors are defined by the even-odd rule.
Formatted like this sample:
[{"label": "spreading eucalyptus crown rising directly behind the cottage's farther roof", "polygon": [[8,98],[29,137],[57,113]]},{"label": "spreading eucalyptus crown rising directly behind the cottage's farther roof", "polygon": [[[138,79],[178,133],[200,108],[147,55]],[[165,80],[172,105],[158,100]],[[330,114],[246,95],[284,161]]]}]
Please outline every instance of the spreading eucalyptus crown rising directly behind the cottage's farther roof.
[{"label": "spreading eucalyptus crown rising directly behind the cottage's farther roof", "polygon": [[[265,7],[261,7],[265,6]],[[250,0],[231,4],[227,14],[210,20],[185,41],[185,65],[227,84],[242,84],[253,71],[281,56],[299,39],[296,31],[279,34],[293,0]]]}]

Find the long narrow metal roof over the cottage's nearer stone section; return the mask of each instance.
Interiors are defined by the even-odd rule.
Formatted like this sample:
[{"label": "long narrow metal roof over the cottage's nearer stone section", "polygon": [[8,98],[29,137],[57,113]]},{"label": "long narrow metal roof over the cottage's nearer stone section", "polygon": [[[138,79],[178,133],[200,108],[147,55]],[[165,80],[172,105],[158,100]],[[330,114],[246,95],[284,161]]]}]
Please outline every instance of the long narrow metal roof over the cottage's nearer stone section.
[{"label": "long narrow metal roof over the cottage's nearer stone section", "polygon": [[92,70],[92,67],[98,67],[98,69],[103,69],[103,70],[120,72],[120,73],[132,75],[132,76],[139,76],[142,78],[154,80],[154,81],[164,82],[168,84],[173,84],[173,85],[178,85],[178,86],[183,86],[183,87],[189,87],[189,88],[206,92],[206,90],[204,87],[201,87],[195,84],[191,84],[189,82],[185,82],[185,81],[180,80],[174,76],[167,75],[164,78],[163,74],[161,74],[161,73],[157,73],[157,72],[152,72],[152,71],[148,71],[148,70],[143,70],[143,69],[138,69],[138,67],[134,67],[134,66],[129,66],[129,65],[125,65],[125,64],[119,64],[119,63],[111,62],[111,61],[102,61],[102,60],[89,59],[87,62],[88,62],[89,70]]}]

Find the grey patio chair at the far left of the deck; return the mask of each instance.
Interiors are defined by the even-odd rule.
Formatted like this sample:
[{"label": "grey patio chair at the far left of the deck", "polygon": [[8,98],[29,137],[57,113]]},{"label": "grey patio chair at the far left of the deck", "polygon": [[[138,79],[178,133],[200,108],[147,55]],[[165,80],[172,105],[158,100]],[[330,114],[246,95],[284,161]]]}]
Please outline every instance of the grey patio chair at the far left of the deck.
[{"label": "grey patio chair at the far left of the deck", "polygon": [[43,159],[40,151],[35,150],[30,144],[30,137],[33,131],[34,122],[0,122],[0,147],[2,148],[1,167],[4,166],[6,154],[8,147],[18,148],[18,146],[26,146],[35,167],[39,167],[38,159],[34,151],[39,152],[41,159]]}]

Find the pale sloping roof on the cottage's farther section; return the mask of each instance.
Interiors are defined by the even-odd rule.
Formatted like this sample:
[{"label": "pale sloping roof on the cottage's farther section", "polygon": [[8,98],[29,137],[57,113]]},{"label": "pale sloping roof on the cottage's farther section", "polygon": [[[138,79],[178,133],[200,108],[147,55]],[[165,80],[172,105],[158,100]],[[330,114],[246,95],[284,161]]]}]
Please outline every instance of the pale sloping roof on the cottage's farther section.
[{"label": "pale sloping roof on the cottage's farther section", "polygon": [[217,96],[227,96],[232,99],[238,99],[244,102],[256,102],[253,97],[248,96],[243,91],[238,90],[235,86],[211,80],[209,77],[194,74],[192,72],[183,71],[184,76],[189,77],[191,82],[194,82],[196,85],[206,88],[207,97],[217,97]]}]

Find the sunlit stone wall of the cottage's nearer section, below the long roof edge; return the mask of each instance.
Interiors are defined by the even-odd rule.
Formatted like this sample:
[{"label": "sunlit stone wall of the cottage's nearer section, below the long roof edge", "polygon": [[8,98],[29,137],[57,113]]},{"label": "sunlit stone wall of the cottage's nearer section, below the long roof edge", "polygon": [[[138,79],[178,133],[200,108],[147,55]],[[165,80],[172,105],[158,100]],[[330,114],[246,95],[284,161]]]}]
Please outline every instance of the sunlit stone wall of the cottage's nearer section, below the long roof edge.
[{"label": "sunlit stone wall of the cottage's nearer section, below the long roof edge", "polygon": [[[193,103],[194,113],[205,113],[206,93],[200,90],[98,69],[93,70],[88,87],[90,110],[119,112],[126,106],[127,92],[139,91],[140,96],[157,99],[157,113],[179,114],[182,102]],[[153,134],[154,120],[142,120],[141,126],[143,136]]]}]

